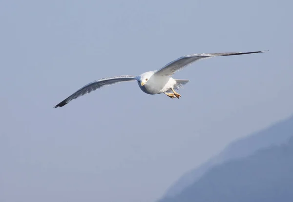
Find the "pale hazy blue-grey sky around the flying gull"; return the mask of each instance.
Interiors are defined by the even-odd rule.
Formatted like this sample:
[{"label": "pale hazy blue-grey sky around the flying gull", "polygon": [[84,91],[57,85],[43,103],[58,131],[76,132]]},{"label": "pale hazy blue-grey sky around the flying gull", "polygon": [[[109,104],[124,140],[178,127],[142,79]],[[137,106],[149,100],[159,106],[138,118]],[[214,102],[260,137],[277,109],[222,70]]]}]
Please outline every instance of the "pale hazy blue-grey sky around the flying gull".
[{"label": "pale hazy blue-grey sky around the flying gull", "polygon": [[[293,113],[292,1],[0,2],[0,201],[152,202],[230,141]],[[199,61],[182,98],[90,81]]]}]

